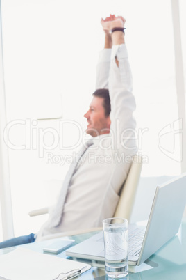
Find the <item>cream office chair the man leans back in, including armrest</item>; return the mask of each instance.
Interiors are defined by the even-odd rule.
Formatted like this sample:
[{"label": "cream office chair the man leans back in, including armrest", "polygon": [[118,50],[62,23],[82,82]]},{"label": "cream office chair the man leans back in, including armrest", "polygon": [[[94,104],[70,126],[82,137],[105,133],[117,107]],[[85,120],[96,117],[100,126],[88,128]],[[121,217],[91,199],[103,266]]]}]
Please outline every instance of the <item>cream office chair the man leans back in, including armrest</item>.
[{"label": "cream office chair the man leans back in, including armrest", "polygon": [[[133,162],[130,165],[130,169],[128,171],[128,176],[124,181],[124,185],[121,187],[119,192],[119,202],[117,203],[117,208],[115,210],[114,217],[124,217],[128,219],[130,222],[130,217],[133,212],[133,205],[135,203],[135,196],[137,192],[137,186],[140,181],[140,174],[142,170],[142,157],[140,155],[133,156]],[[33,210],[28,213],[30,217],[34,217],[37,215],[47,214],[49,208],[42,208],[38,210]],[[42,240],[47,240],[51,238],[60,238],[62,236],[71,236],[77,235],[81,233],[89,233],[91,231],[100,231],[102,228],[87,228],[85,230],[75,230],[68,231],[64,233],[55,233],[51,235],[46,235],[42,238]]]}]

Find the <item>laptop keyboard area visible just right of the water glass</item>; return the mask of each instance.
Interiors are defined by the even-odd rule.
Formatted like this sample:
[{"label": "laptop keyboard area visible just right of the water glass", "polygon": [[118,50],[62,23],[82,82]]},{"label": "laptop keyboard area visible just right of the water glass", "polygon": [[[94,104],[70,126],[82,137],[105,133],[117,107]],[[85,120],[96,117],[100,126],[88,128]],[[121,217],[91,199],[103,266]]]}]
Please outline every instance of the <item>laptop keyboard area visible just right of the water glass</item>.
[{"label": "laptop keyboard area visible just right of the water glass", "polygon": [[144,240],[145,229],[135,228],[128,235],[128,254],[130,256],[139,256]]}]

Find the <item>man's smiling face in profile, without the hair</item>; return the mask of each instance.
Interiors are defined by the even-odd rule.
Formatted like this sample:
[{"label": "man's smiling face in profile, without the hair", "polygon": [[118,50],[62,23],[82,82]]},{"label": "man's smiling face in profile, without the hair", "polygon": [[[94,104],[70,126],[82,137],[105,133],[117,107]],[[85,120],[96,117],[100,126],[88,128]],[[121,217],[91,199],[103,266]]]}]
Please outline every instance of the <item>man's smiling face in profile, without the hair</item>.
[{"label": "man's smiling face in profile, without the hair", "polygon": [[92,137],[110,132],[110,116],[105,116],[103,98],[94,96],[84,117],[87,118],[88,123],[86,132]]}]

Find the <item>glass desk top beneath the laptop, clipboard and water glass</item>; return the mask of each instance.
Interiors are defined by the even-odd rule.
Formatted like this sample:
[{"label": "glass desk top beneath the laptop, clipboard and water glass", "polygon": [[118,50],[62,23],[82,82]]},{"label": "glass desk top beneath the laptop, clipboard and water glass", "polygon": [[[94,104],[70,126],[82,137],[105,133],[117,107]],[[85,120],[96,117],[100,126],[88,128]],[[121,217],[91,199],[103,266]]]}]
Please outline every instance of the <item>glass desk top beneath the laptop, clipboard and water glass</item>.
[{"label": "glass desk top beneath the laptop, clipboard and water glass", "polygon": [[[89,238],[95,233],[85,233],[82,235],[74,235],[70,238],[76,240],[76,243]],[[51,240],[44,240],[42,242],[35,242],[31,244],[24,244],[22,247],[31,249],[34,251],[42,252],[42,249],[49,244]],[[6,254],[11,248],[0,249],[0,254]],[[56,255],[60,258],[67,258],[65,252]],[[53,256],[56,258],[56,256]],[[186,279],[186,219],[183,219],[182,225],[180,226],[180,231],[178,234],[172,238],[167,244],[165,244],[161,249],[159,249],[155,254],[153,254],[146,262],[149,265],[148,270],[140,272],[131,272],[135,267],[130,267],[130,272],[126,280],[182,280]],[[141,268],[136,267],[137,269]],[[74,278],[75,279],[75,278]],[[105,278],[105,270],[101,267],[92,267],[91,270],[83,273],[80,277],[76,279],[84,280],[103,280],[110,279]],[[34,280],[34,279],[33,279]]]}]

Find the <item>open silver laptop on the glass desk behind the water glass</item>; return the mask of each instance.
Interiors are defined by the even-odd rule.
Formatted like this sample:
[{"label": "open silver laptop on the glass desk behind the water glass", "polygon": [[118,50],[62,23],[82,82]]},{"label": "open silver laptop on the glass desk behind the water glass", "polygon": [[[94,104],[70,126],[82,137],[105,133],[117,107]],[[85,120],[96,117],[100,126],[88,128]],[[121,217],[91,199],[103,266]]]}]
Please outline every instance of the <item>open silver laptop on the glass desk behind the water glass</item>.
[{"label": "open silver laptop on the glass desk behind the water glass", "polygon": [[[146,226],[128,226],[128,265],[144,263],[178,233],[185,205],[186,173],[156,187]],[[104,262],[103,231],[70,247],[65,253],[75,258]]]}]

